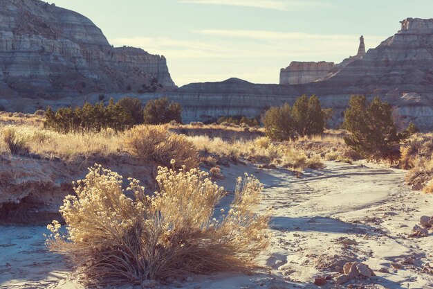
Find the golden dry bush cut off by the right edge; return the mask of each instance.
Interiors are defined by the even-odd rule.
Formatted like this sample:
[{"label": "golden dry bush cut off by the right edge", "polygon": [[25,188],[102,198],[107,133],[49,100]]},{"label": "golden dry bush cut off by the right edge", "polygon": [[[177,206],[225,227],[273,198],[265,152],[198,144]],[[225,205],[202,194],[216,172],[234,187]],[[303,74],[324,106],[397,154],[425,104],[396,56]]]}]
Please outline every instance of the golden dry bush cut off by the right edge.
[{"label": "golden dry bush cut off by the right edge", "polygon": [[416,134],[400,148],[400,166],[409,169],[406,182],[413,189],[433,192],[433,135]]}]

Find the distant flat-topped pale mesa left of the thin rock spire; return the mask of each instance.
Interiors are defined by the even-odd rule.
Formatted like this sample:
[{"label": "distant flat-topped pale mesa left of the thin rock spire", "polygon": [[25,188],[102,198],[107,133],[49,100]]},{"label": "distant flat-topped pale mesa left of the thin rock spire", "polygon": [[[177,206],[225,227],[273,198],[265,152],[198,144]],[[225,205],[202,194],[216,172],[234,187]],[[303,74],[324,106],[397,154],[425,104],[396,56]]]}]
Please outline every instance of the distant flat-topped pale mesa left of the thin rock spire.
[{"label": "distant flat-topped pale mesa left of the thin rock spire", "polygon": [[301,85],[324,78],[334,67],[334,62],[297,62],[282,68],[279,73],[280,85]]}]

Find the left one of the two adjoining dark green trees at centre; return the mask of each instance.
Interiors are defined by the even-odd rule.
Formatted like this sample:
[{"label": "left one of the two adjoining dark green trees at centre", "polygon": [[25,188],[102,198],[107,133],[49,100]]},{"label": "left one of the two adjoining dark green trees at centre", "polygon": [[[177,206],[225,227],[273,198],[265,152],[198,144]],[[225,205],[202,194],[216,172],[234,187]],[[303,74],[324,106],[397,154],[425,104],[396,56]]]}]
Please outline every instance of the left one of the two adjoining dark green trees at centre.
[{"label": "left one of the two adjoining dark green trees at centre", "polygon": [[285,103],[282,107],[270,107],[262,121],[266,136],[275,141],[284,141],[295,137],[295,125],[291,106]]}]

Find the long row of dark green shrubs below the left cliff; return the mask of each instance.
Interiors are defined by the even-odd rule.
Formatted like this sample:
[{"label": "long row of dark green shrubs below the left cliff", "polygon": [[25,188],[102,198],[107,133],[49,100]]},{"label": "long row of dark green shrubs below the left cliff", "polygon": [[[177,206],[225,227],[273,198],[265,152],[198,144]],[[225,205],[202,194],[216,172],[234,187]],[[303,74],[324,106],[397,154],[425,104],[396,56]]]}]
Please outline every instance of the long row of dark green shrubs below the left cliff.
[{"label": "long row of dark green shrubs below the left cliff", "polygon": [[133,125],[131,114],[118,103],[114,103],[113,98],[109,100],[107,106],[104,103],[84,103],[82,107],[62,107],[53,112],[48,107],[45,113],[46,121],[44,128],[57,132],[75,131],[95,131],[99,132],[103,128],[113,128],[113,130],[126,130]]}]

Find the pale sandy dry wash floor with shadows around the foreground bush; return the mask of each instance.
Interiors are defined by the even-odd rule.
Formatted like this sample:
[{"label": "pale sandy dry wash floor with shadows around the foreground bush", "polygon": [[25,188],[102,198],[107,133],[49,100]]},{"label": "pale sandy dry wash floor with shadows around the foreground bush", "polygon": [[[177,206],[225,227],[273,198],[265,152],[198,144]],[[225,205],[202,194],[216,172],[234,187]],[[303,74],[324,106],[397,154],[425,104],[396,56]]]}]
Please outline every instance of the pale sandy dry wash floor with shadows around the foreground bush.
[{"label": "pale sandy dry wash floor with shadows around the foreground bush", "polygon": [[[273,208],[273,238],[259,259],[264,268],[250,276],[190,276],[160,288],[317,288],[315,277],[334,277],[349,261],[367,264],[377,276],[341,286],[327,281],[322,288],[433,288],[433,275],[423,272],[433,269],[432,231],[409,238],[421,216],[433,215],[433,195],[408,189],[403,170],[326,162],[324,170],[301,178],[243,165],[222,172],[229,190],[245,172],[265,185],[263,209]],[[81,288],[62,258],[46,251],[44,232],[0,227],[0,289]]]}]

